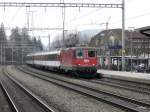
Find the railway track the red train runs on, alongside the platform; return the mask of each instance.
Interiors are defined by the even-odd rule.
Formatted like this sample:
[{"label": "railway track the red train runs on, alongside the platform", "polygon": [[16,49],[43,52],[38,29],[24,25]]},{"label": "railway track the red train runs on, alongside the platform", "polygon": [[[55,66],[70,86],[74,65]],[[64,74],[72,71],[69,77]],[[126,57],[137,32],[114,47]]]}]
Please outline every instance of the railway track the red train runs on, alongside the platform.
[{"label": "railway track the red train runs on, alongside the platform", "polygon": [[[57,73],[60,75],[60,73]],[[62,75],[62,74],[61,74]],[[64,77],[68,77],[66,75],[63,75]],[[96,84],[102,84],[110,87],[125,89],[141,94],[150,95],[150,85],[149,84],[143,84],[143,83],[137,83],[137,82],[131,82],[131,81],[124,81],[119,79],[109,79],[109,78],[102,78],[102,79],[92,79],[92,80],[86,80],[86,79],[80,79],[86,82],[96,83]]]}]

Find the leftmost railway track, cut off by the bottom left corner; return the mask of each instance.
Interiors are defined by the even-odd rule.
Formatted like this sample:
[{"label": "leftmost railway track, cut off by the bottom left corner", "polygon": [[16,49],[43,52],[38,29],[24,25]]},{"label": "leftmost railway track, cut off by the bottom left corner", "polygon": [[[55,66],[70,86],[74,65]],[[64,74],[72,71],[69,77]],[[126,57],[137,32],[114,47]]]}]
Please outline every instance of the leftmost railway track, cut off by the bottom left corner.
[{"label": "leftmost railway track, cut off by the bottom left corner", "polygon": [[56,112],[21,83],[15,80],[8,71],[1,78],[1,87],[9,99],[13,112]]}]

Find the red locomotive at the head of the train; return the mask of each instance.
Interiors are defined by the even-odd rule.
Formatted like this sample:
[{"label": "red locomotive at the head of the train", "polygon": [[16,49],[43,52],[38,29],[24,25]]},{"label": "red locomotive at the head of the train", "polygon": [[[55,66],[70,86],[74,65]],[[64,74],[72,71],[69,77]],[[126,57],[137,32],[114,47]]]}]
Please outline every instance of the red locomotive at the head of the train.
[{"label": "red locomotive at the head of the train", "polygon": [[95,75],[97,72],[97,52],[92,47],[67,48],[60,53],[61,69],[80,75]]}]

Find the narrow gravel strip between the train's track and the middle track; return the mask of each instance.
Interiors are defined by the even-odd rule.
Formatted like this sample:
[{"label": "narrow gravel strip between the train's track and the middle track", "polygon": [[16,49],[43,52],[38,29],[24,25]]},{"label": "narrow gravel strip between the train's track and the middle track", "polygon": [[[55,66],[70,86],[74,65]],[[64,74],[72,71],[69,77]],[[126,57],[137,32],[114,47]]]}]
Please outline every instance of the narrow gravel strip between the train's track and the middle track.
[{"label": "narrow gravel strip between the train's track and the middle track", "polygon": [[[41,72],[40,70],[37,70],[37,69],[33,69],[33,70]],[[42,73],[46,73],[48,75],[51,75],[50,73],[43,72],[43,71],[42,71]],[[56,77],[60,77],[60,76],[56,76]],[[92,87],[92,88],[109,91],[110,93],[115,93],[115,94],[119,94],[119,95],[122,95],[122,96],[126,96],[126,97],[129,97],[129,98],[134,98],[134,99],[137,99],[137,100],[140,100],[140,101],[150,103],[150,96],[146,95],[146,94],[133,92],[133,91],[129,91],[129,90],[121,89],[121,88],[116,88],[116,87],[110,87],[110,86],[107,86],[107,85],[96,84],[96,83],[87,82],[87,81],[83,81],[83,80],[78,80],[78,79],[75,79],[75,78],[66,78],[64,76],[62,76],[61,78],[64,78],[65,80],[70,81],[70,82],[75,82],[75,83],[78,83],[78,84],[81,84],[81,85],[83,85],[83,84],[88,85],[89,87]]]}]

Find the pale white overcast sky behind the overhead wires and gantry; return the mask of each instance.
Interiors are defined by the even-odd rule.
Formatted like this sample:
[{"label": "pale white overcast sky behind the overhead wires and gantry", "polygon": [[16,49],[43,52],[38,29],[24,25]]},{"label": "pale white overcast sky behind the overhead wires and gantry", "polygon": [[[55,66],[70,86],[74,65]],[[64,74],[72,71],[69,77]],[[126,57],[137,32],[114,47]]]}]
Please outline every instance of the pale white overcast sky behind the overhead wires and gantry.
[{"label": "pale white overcast sky behind the overhead wires and gantry", "polygon": [[[63,0],[1,0],[1,2],[62,2]],[[64,0],[74,3],[121,3],[122,0]],[[150,0],[125,0],[125,27],[149,26]],[[26,27],[27,11],[30,13],[30,27],[62,27],[62,8],[0,7],[0,22],[5,27]],[[121,9],[66,8],[65,30],[105,29],[101,23],[109,22],[108,28],[121,28]],[[48,34],[54,37],[62,31],[34,31],[32,35]]]}]

